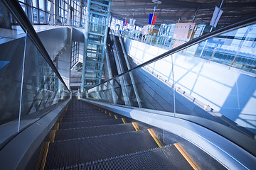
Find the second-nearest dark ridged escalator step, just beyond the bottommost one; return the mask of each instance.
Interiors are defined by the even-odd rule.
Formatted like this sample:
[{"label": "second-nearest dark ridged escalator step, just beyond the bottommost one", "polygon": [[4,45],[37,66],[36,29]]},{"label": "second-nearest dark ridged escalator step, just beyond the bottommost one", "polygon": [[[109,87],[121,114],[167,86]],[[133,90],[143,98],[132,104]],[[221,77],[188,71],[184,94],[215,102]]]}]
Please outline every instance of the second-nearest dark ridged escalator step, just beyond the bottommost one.
[{"label": "second-nearest dark ridged escalator step, just beyond the bottommost one", "polygon": [[147,130],[50,143],[46,169],[58,169],[156,148]]}]

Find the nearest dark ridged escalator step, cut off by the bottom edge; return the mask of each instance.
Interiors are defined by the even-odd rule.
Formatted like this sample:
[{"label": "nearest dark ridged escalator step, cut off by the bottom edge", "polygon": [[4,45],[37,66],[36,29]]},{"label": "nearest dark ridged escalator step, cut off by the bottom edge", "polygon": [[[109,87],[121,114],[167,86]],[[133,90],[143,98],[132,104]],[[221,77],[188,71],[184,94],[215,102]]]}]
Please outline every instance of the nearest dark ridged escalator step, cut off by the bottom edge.
[{"label": "nearest dark ridged escalator step, cut off by the bottom edge", "polygon": [[149,149],[97,162],[73,166],[73,169],[193,169],[174,145]]}]

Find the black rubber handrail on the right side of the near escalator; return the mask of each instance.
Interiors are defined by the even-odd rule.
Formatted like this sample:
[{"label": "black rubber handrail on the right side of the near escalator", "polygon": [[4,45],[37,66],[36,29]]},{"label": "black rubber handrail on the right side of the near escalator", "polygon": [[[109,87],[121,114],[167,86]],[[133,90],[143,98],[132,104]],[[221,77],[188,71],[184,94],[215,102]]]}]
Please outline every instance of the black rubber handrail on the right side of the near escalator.
[{"label": "black rubber handrail on the right side of the near escalator", "polygon": [[[171,50],[169,50],[169,51],[167,51],[167,52],[164,52],[163,54],[161,54],[161,55],[159,55],[159,56],[157,56],[157,57],[154,57],[153,59],[151,59],[151,60],[149,60],[149,61],[147,61],[147,62],[144,62],[144,63],[142,63],[142,64],[139,64],[139,65],[137,65],[137,67],[134,67],[134,68],[132,68],[132,69],[129,69],[129,70],[127,70],[126,72],[123,72],[122,74],[118,74],[117,76],[112,77],[111,79],[108,79],[107,81],[104,81],[104,82],[102,82],[101,84],[97,84],[96,86],[100,86],[100,85],[102,85],[102,84],[105,84],[105,83],[108,82],[108,81],[111,81],[111,80],[113,80],[113,79],[117,79],[118,77],[121,77],[121,76],[124,75],[124,74],[127,74],[127,73],[129,73],[129,72],[134,71],[135,69],[139,69],[139,68],[144,67],[144,66],[146,66],[146,65],[148,65],[148,64],[151,64],[152,62],[156,62],[156,61],[158,61],[158,60],[161,60],[161,59],[163,59],[164,57],[168,57],[169,55],[173,55],[173,54],[176,53],[176,52],[179,52],[179,51],[184,50],[184,49],[186,49],[186,48],[188,48],[188,47],[191,47],[192,45],[196,45],[196,44],[198,44],[199,42],[202,42],[202,41],[204,41],[204,40],[208,40],[209,38],[213,38],[213,37],[215,37],[215,36],[217,36],[217,35],[220,35],[220,34],[223,34],[223,33],[227,33],[227,32],[229,32],[229,31],[231,31],[231,30],[235,30],[235,29],[242,28],[242,27],[245,27],[245,26],[250,26],[250,25],[252,25],[252,24],[254,24],[254,23],[256,23],[256,17],[247,19],[247,20],[245,20],[245,21],[240,21],[240,22],[238,22],[238,23],[233,23],[233,24],[231,24],[230,26],[226,26],[226,27],[220,28],[220,29],[218,29],[218,30],[214,30],[213,32],[210,32],[210,33],[207,33],[207,34],[205,34],[205,35],[202,35],[202,36],[200,36],[200,37],[198,37],[198,38],[195,38],[195,39],[193,39],[193,40],[190,40],[190,41],[188,41],[188,42],[186,42],[186,43],[184,43],[184,44],[182,44],[182,45],[179,45],[178,47],[175,47],[174,49],[171,49]],[[96,86],[93,86],[92,88],[95,88]],[[91,89],[92,89],[92,88],[91,88]]]}]

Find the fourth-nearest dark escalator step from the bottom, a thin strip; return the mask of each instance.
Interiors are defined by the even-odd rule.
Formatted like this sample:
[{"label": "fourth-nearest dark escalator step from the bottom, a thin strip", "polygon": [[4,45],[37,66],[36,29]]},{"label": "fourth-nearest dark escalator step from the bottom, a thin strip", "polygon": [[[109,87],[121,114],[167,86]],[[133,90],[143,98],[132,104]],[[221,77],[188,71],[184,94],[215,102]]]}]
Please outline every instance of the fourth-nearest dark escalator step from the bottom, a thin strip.
[{"label": "fourth-nearest dark escalator step from the bottom, a thin strip", "polygon": [[87,121],[87,120],[103,120],[103,119],[114,119],[114,116],[110,115],[96,115],[96,116],[85,116],[85,117],[73,117],[73,118],[63,118],[62,123],[69,123],[69,122],[80,122],[80,121]]}]

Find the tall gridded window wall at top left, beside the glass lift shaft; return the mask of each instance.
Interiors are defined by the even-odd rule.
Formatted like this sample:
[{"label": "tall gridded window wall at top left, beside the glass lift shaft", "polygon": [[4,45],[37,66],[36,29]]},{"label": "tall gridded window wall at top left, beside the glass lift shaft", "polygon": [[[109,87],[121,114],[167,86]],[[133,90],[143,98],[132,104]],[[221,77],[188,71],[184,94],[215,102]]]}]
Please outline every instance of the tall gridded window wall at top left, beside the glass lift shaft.
[{"label": "tall gridded window wall at top left, beside the glass lift shaft", "polygon": [[86,1],[19,0],[18,2],[32,24],[85,27]]}]

